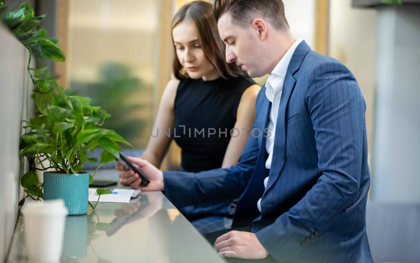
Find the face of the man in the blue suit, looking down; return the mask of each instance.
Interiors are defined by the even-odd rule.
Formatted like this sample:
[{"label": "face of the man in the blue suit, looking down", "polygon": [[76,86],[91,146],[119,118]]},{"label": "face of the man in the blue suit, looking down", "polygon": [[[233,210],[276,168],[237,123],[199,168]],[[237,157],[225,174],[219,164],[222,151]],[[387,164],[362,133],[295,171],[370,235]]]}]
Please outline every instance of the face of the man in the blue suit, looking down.
[{"label": "face of the man in the blue suit, looking down", "polygon": [[252,78],[264,73],[264,46],[258,39],[258,31],[249,25],[248,29],[232,23],[230,13],[224,13],[218,21],[220,37],[226,44],[226,62],[235,62]]}]

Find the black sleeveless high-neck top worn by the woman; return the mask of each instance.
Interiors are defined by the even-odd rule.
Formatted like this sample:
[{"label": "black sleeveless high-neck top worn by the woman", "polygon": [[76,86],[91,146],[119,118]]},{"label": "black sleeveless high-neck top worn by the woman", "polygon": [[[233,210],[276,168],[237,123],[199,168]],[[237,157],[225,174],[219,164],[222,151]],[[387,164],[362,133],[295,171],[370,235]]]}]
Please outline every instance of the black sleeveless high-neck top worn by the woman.
[{"label": "black sleeveless high-neck top worn by the woman", "polygon": [[[179,83],[173,139],[181,147],[182,169],[201,172],[222,166],[239,101],[245,89],[253,84],[251,78],[245,77],[187,79]],[[237,134],[232,130],[232,135]]]}]

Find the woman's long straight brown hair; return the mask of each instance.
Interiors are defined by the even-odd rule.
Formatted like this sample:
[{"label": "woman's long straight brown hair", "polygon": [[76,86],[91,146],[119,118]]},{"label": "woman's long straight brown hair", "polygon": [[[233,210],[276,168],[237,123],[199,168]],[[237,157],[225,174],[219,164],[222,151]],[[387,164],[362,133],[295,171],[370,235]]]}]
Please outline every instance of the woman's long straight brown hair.
[{"label": "woman's long straight brown hair", "polygon": [[[213,5],[204,1],[194,1],[182,6],[173,17],[172,30],[183,21],[192,21],[194,23],[204,55],[213,64],[220,76],[223,78],[246,76],[235,63],[228,64],[226,62],[226,46],[222,39],[220,39],[217,22],[213,15]],[[189,76],[176,56],[173,36],[172,44],[174,53],[172,65],[173,75],[179,80],[185,80]]]}]

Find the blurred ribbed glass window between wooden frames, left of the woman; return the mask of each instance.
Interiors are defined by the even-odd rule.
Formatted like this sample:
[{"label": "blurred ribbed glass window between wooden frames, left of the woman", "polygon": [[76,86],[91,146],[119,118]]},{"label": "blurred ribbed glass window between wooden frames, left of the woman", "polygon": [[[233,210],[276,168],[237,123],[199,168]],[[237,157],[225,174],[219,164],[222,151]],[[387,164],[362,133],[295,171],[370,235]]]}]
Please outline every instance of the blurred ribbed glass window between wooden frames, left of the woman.
[{"label": "blurred ribbed glass window between wooden frames, left of the woman", "polygon": [[[72,0],[69,88],[92,99],[134,148],[145,148],[157,108],[161,0]],[[127,147],[127,146],[126,146]]]}]

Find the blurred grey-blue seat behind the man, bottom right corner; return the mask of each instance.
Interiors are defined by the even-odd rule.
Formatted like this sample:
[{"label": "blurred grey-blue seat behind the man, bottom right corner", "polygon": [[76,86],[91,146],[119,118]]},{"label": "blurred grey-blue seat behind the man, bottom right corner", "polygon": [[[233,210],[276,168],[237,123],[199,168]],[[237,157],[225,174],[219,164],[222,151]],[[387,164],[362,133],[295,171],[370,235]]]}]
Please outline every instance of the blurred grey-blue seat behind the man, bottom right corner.
[{"label": "blurred grey-blue seat behind the man, bottom right corner", "polygon": [[420,263],[420,203],[368,202],[366,231],[374,263]]}]

